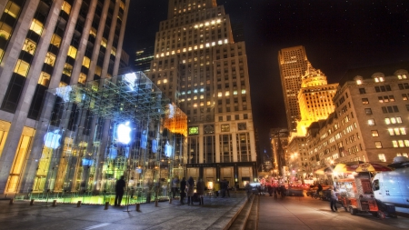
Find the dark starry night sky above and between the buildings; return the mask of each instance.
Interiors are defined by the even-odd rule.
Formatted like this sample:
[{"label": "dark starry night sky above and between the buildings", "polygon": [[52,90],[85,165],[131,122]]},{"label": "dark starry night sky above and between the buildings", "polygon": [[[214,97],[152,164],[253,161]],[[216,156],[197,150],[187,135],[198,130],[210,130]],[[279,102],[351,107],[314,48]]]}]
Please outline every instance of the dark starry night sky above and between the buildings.
[{"label": "dark starry night sky above and between the buildings", "polygon": [[[168,0],[130,0],[125,52],[130,65],[137,49],[155,45]],[[244,23],[254,127],[261,149],[268,132],[285,127],[277,55],[304,45],[308,60],[328,77],[341,79],[349,68],[409,61],[408,0],[217,0],[233,23]]]}]

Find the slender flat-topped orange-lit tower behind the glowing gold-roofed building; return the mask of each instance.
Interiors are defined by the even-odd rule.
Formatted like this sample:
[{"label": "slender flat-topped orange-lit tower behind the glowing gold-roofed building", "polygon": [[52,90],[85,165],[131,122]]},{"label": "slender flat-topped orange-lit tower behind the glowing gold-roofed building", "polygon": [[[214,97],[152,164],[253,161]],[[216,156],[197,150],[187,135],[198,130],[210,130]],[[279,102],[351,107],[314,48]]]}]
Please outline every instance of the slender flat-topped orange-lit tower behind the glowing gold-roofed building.
[{"label": "slender flat-topped orange-lit tower behind the glowing gold-roofed building", "polygon": [[301,119],[298,92],[300,92],[302,77],[305,74],[307,65],[308,59],[302,45],[284,48],[278,52],[285,114],[287,115],[288,131],[290,132],[296,132],[297,121]]}]

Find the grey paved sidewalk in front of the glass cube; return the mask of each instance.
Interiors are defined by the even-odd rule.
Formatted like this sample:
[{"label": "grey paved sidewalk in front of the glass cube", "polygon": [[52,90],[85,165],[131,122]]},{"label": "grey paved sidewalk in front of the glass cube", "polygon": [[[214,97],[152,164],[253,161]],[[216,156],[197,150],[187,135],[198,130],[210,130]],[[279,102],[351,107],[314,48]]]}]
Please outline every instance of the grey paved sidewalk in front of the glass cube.
[{"label": "grey paved sidewalk in front of the glass cube", "polygon": [[[0,229],[224,229],[246,202],[244,192],[231,192],[228,198],[205,197],[205,205],[179,205],[179,201],[141,204],[140,212],[125,206],[63,205],[43,207],[44,203],[0,201]],[[51,204],[49,204],[51,205]]]}]

